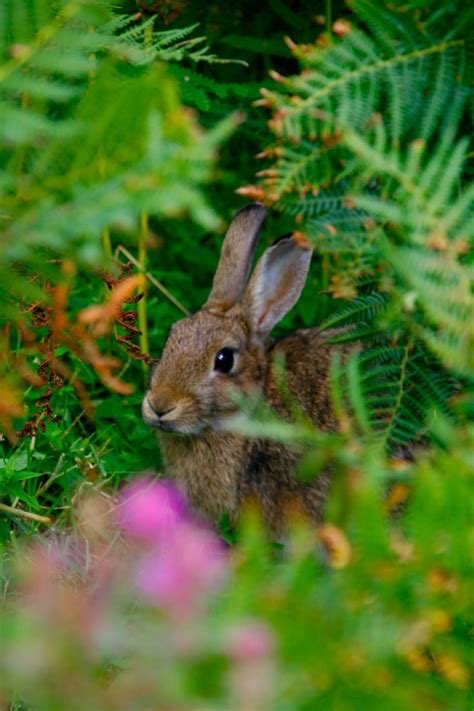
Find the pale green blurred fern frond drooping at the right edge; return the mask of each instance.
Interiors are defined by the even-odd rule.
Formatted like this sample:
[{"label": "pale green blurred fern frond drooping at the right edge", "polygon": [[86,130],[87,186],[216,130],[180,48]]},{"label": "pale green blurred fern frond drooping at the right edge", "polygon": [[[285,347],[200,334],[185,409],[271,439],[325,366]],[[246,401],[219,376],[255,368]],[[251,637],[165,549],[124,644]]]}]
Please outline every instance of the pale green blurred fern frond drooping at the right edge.
[{"label": "pale green blurred fern frond drooping at the right edge", "polygon": [[447,132],[422,165],[423,145],[409,146],[405,156],[387,151],[385,140],[377,150],[350,131],[346,135],[347,145],[372,177],[392,179],[389,200],[362,193],[355,202],[380,222],[396,226],[397,237],[407,246],[396,246],[386,234],[381,251],[401,279],[402,290],[413,291],[428,323],[442,335],[417,322],[412,327],[447,367],[465,375],[474,367],[473,274],[464,257],[474,226],[474,186],[459,191],[467,141],[450,139]]}]

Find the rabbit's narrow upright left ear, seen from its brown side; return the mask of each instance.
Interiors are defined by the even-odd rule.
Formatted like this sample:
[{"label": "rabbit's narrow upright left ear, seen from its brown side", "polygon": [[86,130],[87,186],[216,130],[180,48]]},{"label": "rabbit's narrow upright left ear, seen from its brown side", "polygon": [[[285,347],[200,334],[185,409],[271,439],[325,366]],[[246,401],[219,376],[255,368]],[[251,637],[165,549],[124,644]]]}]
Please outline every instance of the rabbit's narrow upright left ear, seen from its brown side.
[{"label": "rabbit's narrow upright left ear, seen from its brown side", "polygon": [[207,308],[224,311],[242,296],[257,247],[258,233],[267,215],[259,202],[246,205],[232,220],[222,245]]}]

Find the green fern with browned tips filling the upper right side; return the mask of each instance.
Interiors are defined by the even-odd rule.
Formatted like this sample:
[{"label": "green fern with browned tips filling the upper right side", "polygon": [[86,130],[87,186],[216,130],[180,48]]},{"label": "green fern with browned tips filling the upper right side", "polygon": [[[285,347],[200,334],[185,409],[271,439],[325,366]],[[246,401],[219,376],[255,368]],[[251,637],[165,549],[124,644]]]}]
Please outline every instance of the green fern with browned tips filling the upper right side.
[{"label": "green fern with browned tips filling the upper right side", "polygon": [[327,255],[334,296],[356,295],[322,328],[364,343],[344,392],[362,432],[393,449],[433,409],[448,413],[457,378],[474,374],[472,58],[460,33],[472,11],[453,24],[451,3],[351,7],[341,38],[295,47],[304,71],[264,92],[275,159],[262,188]]}]

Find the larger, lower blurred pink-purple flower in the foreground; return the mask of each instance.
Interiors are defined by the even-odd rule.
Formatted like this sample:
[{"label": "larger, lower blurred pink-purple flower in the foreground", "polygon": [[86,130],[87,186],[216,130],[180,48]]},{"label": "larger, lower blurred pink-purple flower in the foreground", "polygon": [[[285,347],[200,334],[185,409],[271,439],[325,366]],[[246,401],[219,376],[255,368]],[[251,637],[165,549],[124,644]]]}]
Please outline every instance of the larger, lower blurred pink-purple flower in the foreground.
[{"label": "larger, lower blurred pink-purple flower in the foreground", "polygon": [[139,565],[138,587],[171,617],[192,615],[224,578],[224,546],[210,530],[181,523]]}]

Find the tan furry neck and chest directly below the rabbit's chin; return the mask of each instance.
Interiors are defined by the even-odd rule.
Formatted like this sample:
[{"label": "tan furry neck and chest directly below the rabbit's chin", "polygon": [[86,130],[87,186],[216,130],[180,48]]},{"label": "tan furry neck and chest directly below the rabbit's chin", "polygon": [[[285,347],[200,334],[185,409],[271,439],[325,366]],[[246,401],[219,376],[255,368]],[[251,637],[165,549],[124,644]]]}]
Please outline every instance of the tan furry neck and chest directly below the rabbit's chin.
[{"label": "tan furry neck and chest directly below the rabbit's chin", "polygon": [[217,521],[238,515],[238,474],[245,439],[231,432],[206,430],[199,436],[158,433],[167,471],[178,481],[196,510]]}]

